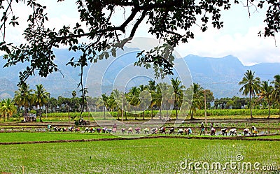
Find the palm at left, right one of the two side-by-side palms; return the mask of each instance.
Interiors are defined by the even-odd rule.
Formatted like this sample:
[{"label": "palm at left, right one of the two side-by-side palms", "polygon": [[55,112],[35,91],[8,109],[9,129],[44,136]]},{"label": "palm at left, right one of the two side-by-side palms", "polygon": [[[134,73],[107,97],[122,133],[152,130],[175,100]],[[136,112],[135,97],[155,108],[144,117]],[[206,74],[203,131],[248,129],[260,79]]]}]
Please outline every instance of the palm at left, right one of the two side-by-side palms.
[{"label": "palm at left, right one of the two side-by-side palms", "polygon": [[34,103],[38,106],[39,110],[39,117],[40,122],[42,121],[42,113],[41,113],[41,107],[48,103],[48,99],[50,98],[50,93],[48,93],[42,84],[36,85],[36,90],[34,92]]}]

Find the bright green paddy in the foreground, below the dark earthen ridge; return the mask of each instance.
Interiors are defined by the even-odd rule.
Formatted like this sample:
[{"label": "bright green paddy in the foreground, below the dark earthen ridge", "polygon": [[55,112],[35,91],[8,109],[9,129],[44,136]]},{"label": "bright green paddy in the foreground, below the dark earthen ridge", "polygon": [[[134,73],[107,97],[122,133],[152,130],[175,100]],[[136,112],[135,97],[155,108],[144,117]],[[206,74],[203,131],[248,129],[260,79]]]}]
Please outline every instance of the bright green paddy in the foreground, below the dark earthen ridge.
[{"label": "bright green paddy in the foreground, below the dark earthen ridge", "polygon": [[157,138],[0,148],[0,173],[22,173],[22,166],[25,173],[188,173],[180,168],[186,159],[225,164],[237,154],[245,162],[280,167],[279,142]]}]

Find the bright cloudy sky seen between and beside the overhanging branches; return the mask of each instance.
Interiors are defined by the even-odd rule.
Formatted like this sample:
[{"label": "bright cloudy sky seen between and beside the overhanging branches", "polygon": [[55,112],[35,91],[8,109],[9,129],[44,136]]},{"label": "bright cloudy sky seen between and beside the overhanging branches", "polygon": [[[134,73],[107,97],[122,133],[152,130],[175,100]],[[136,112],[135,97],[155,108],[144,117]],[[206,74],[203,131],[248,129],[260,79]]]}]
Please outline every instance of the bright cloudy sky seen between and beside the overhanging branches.
[{"label": "bright cloudy sky seen between and beside the overhanging branches", "polygon": [[[73,26],[78,22],[78,10],[75,1],[39,1],[47,6],[49,17],[49,27],[59,28],[62,24]],[[223,29],[213,29],[202,33],[199,27],[195,29],[195,39],[189,43],[181,43],[176,51],[181,56],[199,55],[203,57],[225,57],[226,55],[234,55],[238,57],[245,65],[257,64],[260,62],[280,62],[280,35],[276,35],[276,44],[274,38],[260,38],[258,31],[263,29],[265,25],[263,20],[265,11],[253,12],[251,9],[251,17],[248,17],[248,11],[242,4],[232,6],[229,11],[223,12]],[[27,14],[28,9],[25,6],[18,6],[18,14]],[[120,23],[123,17],[129,15],[130,10],[123,15],[123,10],[116,10],[116,17],[113,22]],[[26,16],[27,17],[27,16]],[[26,18],[22,17],[20,24],[22,29],[25,27]],[[20,29],[12,29],[6,38],[11,42],[23,41],[22,31]],[[148,25],[141,24],[136,36],[153,37],[148,34]],[[153,37],[154,38],[154,37]],[[83,39],[81,40],[83,41]]]}]

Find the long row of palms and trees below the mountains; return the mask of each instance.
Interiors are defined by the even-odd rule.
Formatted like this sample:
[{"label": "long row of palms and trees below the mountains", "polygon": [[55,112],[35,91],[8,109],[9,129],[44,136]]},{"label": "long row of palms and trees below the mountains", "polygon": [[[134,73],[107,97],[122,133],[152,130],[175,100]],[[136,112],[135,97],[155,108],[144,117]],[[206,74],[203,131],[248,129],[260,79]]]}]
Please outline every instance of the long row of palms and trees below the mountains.
[{"label": "long row of palms and trees below the mountains", "polygon": [[[173,110],[178,117],[178,110],[182,107],[190,110],[191,118],[194,115],[201,115],[197,113],[197,110],[202,113],[200,110],[204,109],[242,108],[249,108],[251,118],[253,118],[252,108],[268,108],[268,113],[264,114],[267,114],[269,118],[271,114],[275,114],[270,112],[271,108],[280,108],[280,75],[274,75],[272,82],[260,81],[260,78],[255,77],[254,72],[248,70],[239,85],[241,85],[240,92],[248,97],[233,96],[232,98],[215,99],[213,92],[209,89],[204,89],[197,83],[185,87],[178,78],[172,79],[171,84],[165,82],[156,84],[154,80],[150,80],[148,85],[132,87],[125,93],[115,89],[111,94],[102,94],[101,97],[85,96],[85,98],[77,96],[76,91],[73,91],[71,98],[59,96],[55,99],[50,97],[43,85],[36,85],[36,89],[30,89],[29,85],[23,84],[15,92],[13,100],[1,101],[0,116],[8,118],[16,113],[15,108],[10,106],[16,106],[22,115],[26,115],[28,110],[35,109],[40,115],[40,119],[42,111],[44,113],[101,112],[105,111],[105,108],[112,115],[117,113],[118,118],[127,113],[135,115],[135,118],[139,116],[143,119],[147,116],[153,118],[155,113],[161,113],[162,110]],[[85,107],[83,107],[83,103],[85,103]],[[148,110],[148,112],[142,112],[143,110]],[[244,115],[244,113],[240,114]],[[218,115],[218,113],[214,115]],[[239,113],[230,115],[239,115]]]}]

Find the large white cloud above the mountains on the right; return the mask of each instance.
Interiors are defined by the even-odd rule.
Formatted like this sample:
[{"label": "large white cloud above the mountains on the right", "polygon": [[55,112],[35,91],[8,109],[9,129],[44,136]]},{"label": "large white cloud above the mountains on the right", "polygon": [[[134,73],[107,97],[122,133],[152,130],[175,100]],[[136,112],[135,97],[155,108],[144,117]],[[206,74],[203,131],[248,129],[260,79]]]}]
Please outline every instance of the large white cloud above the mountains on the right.
[{"label": "large white cloud above the mountains on the right", "polygon": [[[235,13],[234,13],[235,12]],[[240,12],[240,13],[239,13]],[[280,62],[280,34],[274,38],[260,38],[258,31],[263,30],[264,13],[253,13],[248,17],[246,10],[235,9],[225,15],[223,29],[209,28],[202,33],[196,32],[195,39],[182,43],[176,48],[181,55],[200,55],[203,57],[224,57],[234,55],[245,65],[260,62]]]}]

